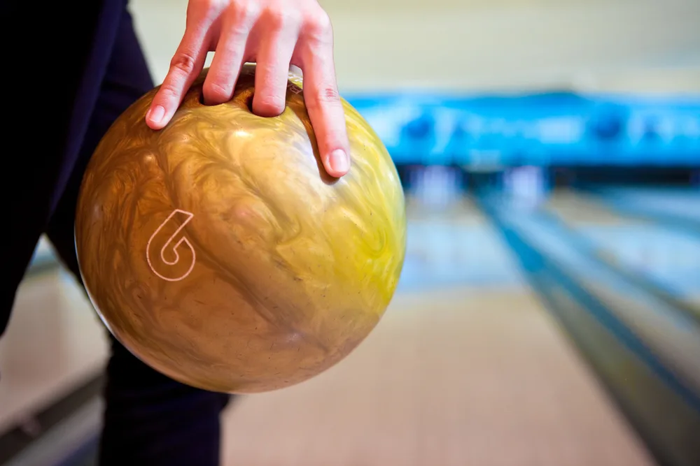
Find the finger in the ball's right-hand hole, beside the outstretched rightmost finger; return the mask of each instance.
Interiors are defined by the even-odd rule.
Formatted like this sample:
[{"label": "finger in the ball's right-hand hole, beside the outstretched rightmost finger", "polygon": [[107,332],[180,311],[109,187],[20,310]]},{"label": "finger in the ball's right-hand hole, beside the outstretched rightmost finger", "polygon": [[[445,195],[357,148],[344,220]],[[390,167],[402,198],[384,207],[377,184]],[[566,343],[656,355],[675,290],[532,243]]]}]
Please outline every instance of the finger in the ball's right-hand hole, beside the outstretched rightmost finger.
[{"label": "finger in the ball's right-hand hole, beside the outstretched rightmost finger", "polygon": [[284,111],[289,62],[294,53],[300,21],[295,15],[276,13],[267,19],[267,34],[258,49],[253,112],[276,117]]}]

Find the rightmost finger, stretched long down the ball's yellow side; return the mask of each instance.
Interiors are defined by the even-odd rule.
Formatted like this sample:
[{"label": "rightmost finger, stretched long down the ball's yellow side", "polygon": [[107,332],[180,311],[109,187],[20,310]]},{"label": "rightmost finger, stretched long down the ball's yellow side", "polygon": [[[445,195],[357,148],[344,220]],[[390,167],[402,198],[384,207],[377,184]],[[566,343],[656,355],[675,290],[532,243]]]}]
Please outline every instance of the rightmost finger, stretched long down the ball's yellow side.
[{"label": "rightmost finger, stretched long down the ball's yellow side", "polygon": [[342,177],[350,170],[350,144],[335,78],[330,22],[322,18],[308,30],[301,54],[304,101],[323,166],[329,175]]}]

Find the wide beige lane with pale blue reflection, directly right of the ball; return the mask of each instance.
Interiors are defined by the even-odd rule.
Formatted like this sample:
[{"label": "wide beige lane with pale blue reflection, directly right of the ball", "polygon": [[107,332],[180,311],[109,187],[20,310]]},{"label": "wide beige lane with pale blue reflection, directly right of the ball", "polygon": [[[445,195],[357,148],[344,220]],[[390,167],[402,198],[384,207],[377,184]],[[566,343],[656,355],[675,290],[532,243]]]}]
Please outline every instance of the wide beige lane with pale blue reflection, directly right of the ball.
[{"label": "wide beige lane with pale blue reflection, directly right of the ball", "polygon": [[240,398],[224,464],[652,465],[472,203],[409,199],[409,219],[374,333],[315,379]]}]

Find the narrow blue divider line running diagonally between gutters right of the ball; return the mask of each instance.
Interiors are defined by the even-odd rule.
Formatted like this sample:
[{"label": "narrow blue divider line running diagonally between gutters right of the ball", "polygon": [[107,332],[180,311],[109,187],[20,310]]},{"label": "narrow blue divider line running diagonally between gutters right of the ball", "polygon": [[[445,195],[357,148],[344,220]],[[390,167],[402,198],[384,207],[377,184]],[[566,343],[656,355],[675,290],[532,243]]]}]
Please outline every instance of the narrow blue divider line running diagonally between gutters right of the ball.
[{"label": "narrow blue divider line running diagonally between gutters right of the ball", "polygon": [[657,358],[653,351],[651,351],[637,335],[627,328],[622,321],[617,319],[615,314],[613,314],[608,307],[594,298],[594,296],[591,296],[591,294],[585,291],[575,280],[571,279],[555,261],[552,261],[552,259],[549,259],[545,254],[535,249],[535,247],[527,242],[517,230],[510,227],[507,221],[504,221],[501,217],[497,207],[490,205],[490,203],[484,199],[481,201],[484,212],[489,214],[489,217],[491,217],[496,226],[498,226],[508,245],[512,247],[514,252],[516,252],[521,259],[521,263],[526,269],[526,272],[536,273],[545,270],[563,289],[566,289],[575,300],[594,316],[601,325],[615,335],[617,340],[622,342],[624,346],[635,354],[640,361],[643,361],[647,367],[650,367],[652,372],[657,374],[657,377],[659,377],[673,393],[682,399],[689,407],[694,409],[694,411],[700,413],[700,395],[698,393],[695,393],[692,388],[676,377],[671,370],[668,370],[664,363],[659,361],[659,358]]}]

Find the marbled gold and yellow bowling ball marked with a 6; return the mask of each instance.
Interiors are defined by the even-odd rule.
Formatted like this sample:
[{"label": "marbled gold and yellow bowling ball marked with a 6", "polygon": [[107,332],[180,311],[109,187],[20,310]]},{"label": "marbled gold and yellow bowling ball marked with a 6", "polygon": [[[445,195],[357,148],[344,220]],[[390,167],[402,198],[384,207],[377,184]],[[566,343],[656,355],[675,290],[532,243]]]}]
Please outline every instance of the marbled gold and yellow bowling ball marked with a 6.
[{"label": "marbled gold and yellow bowling ball marked with a 6", "polygon": [[270,391],[327,370],[377,326],[405,256],[391,157],[342,102],[351,170],[330,177],[290,73],[279,117],[251,112],[255,65],[234,96],[202,103],[208,70],[173,119],[120,115],[80,187],[76,252],[110,332],[155,370],[226,393]]}]

